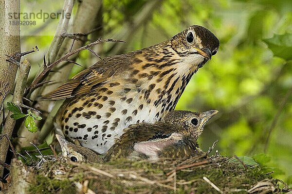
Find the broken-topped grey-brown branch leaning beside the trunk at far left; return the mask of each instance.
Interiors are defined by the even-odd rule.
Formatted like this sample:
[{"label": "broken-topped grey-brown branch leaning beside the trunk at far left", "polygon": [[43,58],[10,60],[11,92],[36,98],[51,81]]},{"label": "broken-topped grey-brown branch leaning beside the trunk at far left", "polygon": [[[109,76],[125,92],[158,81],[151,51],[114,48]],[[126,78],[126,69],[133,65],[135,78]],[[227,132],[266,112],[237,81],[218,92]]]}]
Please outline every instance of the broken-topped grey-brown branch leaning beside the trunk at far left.
[{"label": "broken-topped grey-brown branch leaning beside the trunk at far left", "polygon": [[[17,106],[22,104],[23,93],[27,81],[27,77],[30,71],[29,62],[25,59],[18,68],[18,77],[16,80],[15,92],[12,98],[12,102],[15,103]],[[6,122],[2,131],[2,134],[7,134],[10,138],[12,135],[12,131],[15,126],[15,120],[11,118],[12,112],[9,112],[6,118]],[[5,161],[7,150],[8,150],[9,142],[6,139],[0,140],[0,160]],[[2,175],[3,171],[0,168],[0,176]]]}]

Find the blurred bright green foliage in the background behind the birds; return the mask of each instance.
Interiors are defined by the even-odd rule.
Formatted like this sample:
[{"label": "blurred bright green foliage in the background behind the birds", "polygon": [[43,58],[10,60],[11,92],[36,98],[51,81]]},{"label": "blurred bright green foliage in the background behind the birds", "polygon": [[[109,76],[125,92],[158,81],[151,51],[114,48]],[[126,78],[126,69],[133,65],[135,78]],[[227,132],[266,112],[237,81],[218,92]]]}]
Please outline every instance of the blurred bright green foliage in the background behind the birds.
[{"label": "blurred bright green foliage in the background behind the birds", "polygon": [[[219,52],[193,76],[177,109],[219,110],[200,138],[203,149],[218,139],[220,153],[254,157],[259,163],[279,168],[282,173],[275,171],[273,176],[292,185],[291,1],[163,0],[138,29],[131,28],[131,22],[147,3],[104,0],[104,38],[119,37],[128,29],[133,35],[123,43],[127,44],[123,52],[127,52],[164,41],[193,24],[210,29],[220,40]],[[38,0],[38,4],[28,6],[22,1],[22,9],[46,5],[58,10],[61,4]],[[56,22],[50,21],[40,30],[54,32]],[[37,44],[45,52],[52,36],[36,36],[40,32],[33,28],[37,26],[22,27],[23,31],[36,32],[22,38],[22,49]],[[111,43],[104,44],[100,54],[116,54],[111,47]],[[39,54],[30,57],[31,64],[41,64]],[[78,63],[93,64],[92,58],[97,60],[84,51]]]}]

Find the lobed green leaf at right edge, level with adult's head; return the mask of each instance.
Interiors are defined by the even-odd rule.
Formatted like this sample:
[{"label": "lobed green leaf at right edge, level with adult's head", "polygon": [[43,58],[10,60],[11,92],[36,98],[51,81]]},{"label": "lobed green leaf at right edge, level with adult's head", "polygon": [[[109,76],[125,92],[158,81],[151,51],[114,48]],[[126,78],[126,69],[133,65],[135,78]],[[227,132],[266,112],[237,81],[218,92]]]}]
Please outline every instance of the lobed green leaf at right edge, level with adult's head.
[{"label": "lobed green leaf at right edge, level with adult's head", "polygon": [[272,38],[263,39],[263,41],[267,43],[274,56],[286,61],[292,60],[292,33],[274,34]]}]

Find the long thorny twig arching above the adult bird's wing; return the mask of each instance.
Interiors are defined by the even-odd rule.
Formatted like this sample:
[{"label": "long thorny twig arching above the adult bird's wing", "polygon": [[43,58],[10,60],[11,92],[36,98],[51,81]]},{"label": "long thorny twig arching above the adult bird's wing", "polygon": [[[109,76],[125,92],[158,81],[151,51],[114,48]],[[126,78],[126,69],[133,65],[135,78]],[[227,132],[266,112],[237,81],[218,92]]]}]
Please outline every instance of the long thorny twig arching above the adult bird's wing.
[{"label": "long thorny twig arching above the adult bird's wing", "polygon": [[40,81],[42,81],[45,77],[45,75],[53,68],[55,67],[56,65],[58,65],[59,63],[63,62],[63,61],[66,61],[68,59],[68,57],[72,56],[73,54],[75,53],[78,53],[80,52],[81,50],[85,50],[85,49],[88,49],[90,48],[91,46],[94,46],[94,45],[97,45],[97,44],[100,44],[100,43],[104,43],[104,42],[125,42],[125,41],[122,41],[122,40],[115,40],[115,39],[111,39],[111,38],[108,38],[108,39],[98,39],[86,46],[83,46],[83,47],[80,47],[79,49],[75,49],[73,50],[72,52],[68,52],[67,54],[65,54],[63,57],[61,57],[60,59],[56,60],[54,63],[52,63],[51,65],[48,65],[47,68],[44,68],[43,71],[37,76],[37,78],[32,82],[32,84],[28,87],[28,89],[26,90],[26,93],[25,93],[25,96],[32,92],[35,88],[36,88],[36,84],[39,83]]}]

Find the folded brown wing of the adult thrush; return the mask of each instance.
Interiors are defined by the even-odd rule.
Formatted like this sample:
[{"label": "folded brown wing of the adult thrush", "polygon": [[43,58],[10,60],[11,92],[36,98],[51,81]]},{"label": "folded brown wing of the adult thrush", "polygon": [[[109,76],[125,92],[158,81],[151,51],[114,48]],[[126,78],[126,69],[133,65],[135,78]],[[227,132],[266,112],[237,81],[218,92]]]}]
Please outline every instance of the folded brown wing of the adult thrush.
[{"label": "folded brown wing of the adult thrush", "polygon": [[106,83],[110,77],[120,75],[131,68],[133,60],[131,53],[105,58],[105,61],[99,61],[84,69],[72,80],[40,97],[39,100],[58,100],[90,93]]}]

